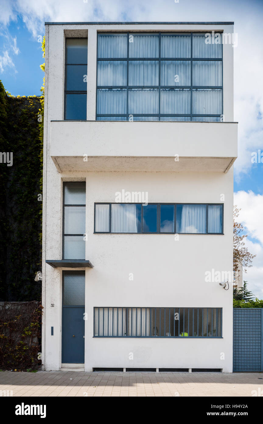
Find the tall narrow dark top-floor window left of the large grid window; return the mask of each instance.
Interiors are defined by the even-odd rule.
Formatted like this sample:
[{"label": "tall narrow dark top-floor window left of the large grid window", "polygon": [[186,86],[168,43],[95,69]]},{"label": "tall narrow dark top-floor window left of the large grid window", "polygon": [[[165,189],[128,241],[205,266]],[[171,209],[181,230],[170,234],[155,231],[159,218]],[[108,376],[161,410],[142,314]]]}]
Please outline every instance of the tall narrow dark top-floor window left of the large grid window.
[{"label": "tall narrow dark top-floor window left of the large grid window", "polygon": [[88,39],[66,39],[65,119],[87,119]]}]

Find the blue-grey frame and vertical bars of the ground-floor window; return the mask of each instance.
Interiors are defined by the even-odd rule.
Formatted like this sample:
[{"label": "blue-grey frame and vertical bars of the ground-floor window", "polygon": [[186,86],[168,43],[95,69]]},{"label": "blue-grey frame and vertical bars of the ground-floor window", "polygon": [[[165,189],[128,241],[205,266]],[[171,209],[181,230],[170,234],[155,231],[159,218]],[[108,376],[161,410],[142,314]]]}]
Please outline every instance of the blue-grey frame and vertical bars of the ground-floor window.
[{"label": "blue-grey frame and vertical bars of the ground-floor window", "polygon": [[[95,310],[96,309],[98,309],[98,312],[99,312],[99,310],[100,309],[103,309],[103,334],[102,335],[99,335],[99,331],[98,331],[98,335],[95,335]],[[114,309],[117,309],[117,335],[104,335],[104,310],[106,310],[107,312],[107,315],[108,315],[108,320],[107,320],[107,323],[108,323],[108,332],[109,332],[109,310],[110,309],[112,309],[112,317],[113,317],[113,310]],[[118,312],[118,310],[119,309],[121,309],[122,310],[122,312],[121,312],[121,320],[122,320],[122,322],[121,322],[121,329],[122,329],[122,334],[121,335],[119,335],[118,334],[118,332],[119,332],[119,312]],[[141,329],[140,329],[140,335],[131,335],[131,336],[129,336],[129,335],[127,335],[127,333],[128,333],[128,319],[127,319],[127,317],[128,317],[128,310],[129,309],[131,309],[131,310],[134,310],[134,309],[136,309],[136,332],[137,332],[137,310],[139,309],[140,310],[140,312],[142,311],[142,309],[145,309],[145,312],[146,312],[146,310],[147,309],[149,309],[150,310],[150,319],[149,319],[149,323],[151,323],[152,322],[152,317],[153,317],[153,315],[152,315],[152,313],[153,313],[153,310],[155,310],[155,315],[154,315],[154,317],[155,317],[155,335],[151,335],[151,325],[150,325],[150,335],[141,335],[141,333],[142,333],[142,320],[140,320],[140,326],[141,326]],[[164,333],[165,333],[165,331],[166,331],[166,320],[165,320],[165,314],[166,314],[166,310],[167,309],[169,309],[169,317],[171,317],[171,311],[170,310],[173,310],[172,311],[172,313],[173,313],[173,316],[175,315],[175,310],[178,310],[178,313],[179,313],[179,320],[178,320],[178,335],[173,335],[173,336],[171,336],[171,335],[165,335],[165,336],[160,336],[160,335],[156,335],[156,310],[159,310],[159,323],[161,323],[161,310],[164,310]],[[190,310],[195,310],[195,309],[197,309],[197,329],[198,329],[198,335],[196,335],[196,336],[189,336],[189,335],[187,335],[187,336],[185,336],[184,335],[184,333],[186,332],[186,330],[187,330],[187,332],[188,332],[188,334],[189,334],[189,329],[190,329],[190,324],[189,324],[189,311]],[[209,336],[208,335],[208,319],[207,319],[207,317],[208,317],[208,309],[212,309],[212,317],[214,316],[214,310],[215,310],[215,312],[216,312],[216,333],[217,334],[220,334],[220,335],[216,335],[216,336]],[[123,335],[123,310],[125,310],[125,315],[126,315],[126,335]],[[183,335],[180,335],[180,310],[183,310]],[[186,310],[188,310],[188,319],[187,319],[187,327],[185,328],[185,311]],[[199,335],[199,310],[202,310],[202,335]],[[206,310],[206,336],[204,335],[204,329],[205,329],[205,327],[204,327],[204,317],[205,317],[205,315],[204,315],[204,310]],[[219,312],[220,312],[220,314],[219,314]],[[99,330],[99,326],[100,326],[100,319],[99,319],[99,315],[100,315],[100,313],[98,313],[98,330]],[[192,316],[192,332],[193,332],[193,329],[194,329],[194,314],[192,314],[193,316]],[[132,327],[132,316],[131,316],[131,332],[132,332],[132,329],[133,329],[133,327]],[[159,323],[157,323],[157,324],[159,324]],[[169,327],[167,328],[167,329],[169,329],[169,333],[170,333],[170,330],[171,330],[171,327],[170,327],[170,323],[171,323],[171,319],[169,318]],[[174,331],[173,331],[173,333],[175,334],[175,320],[173,320],[173,323],[174,323]],[[159,327],[160,328],[160,327]],[[117,307],[117,306],[114,306],[114,307],[112,307],[112,306],[95,306],[95,307],[93,307],[93,338],[154,338],[154,339],[161,339],[161,338],[165,338],[165,339],[175,339],[175,338],[180,338],[180,339],[200,339],[200,338],[203,338],[203,339],[222,339],[223,338],[223,332],[222,332],[222,330],[223,330],[223,308],[222,307],[130,307],[130,306],[126,306],[126,307]],[[113,319],[112,319],[112,332],[113,332]],[[145,332],[146,332],[146,320],[145,320]]]}]

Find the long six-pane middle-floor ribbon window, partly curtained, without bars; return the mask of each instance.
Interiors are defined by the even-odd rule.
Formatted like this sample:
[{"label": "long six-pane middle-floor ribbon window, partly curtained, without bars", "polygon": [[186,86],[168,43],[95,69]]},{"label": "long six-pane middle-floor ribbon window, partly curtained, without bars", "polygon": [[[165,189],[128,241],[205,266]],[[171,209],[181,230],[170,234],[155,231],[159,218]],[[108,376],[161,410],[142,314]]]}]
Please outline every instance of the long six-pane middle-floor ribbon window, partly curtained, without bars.
[{"label": "long six-pane middle-floor ribbon window, partly curtained, without bars", "polygon": [[223,205],[96,203],[94,232],[223,234]]}]

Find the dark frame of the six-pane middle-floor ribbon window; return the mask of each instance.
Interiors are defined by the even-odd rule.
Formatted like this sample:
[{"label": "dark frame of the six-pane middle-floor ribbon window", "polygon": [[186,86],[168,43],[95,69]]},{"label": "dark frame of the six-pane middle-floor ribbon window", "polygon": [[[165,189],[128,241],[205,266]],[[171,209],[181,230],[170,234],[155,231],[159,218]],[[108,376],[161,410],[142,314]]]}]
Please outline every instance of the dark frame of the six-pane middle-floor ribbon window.
[{"label": "dark frame of the six-pane middle-floor ribbon window", "polygon": [[[111,205],[112,204],[127,204],[127,205],[141,205],[141,231],[137,233],[116,233],[111,231]],[[110,205],[109,211],[109,231],[96,231],[96,205]],[[93,234],[185,234],[185,235],[224,235],[224,203],[159,203],[159,202],[148,202],[148,205],[157,205],[157,232],[142,232],[143,229],[143,204],[142,203],[131,203],[131,202],[95,202],[94,203],[94,231]],[[173,232],[160,232],[160,218],[161,218],[161,205],[174,205],[174,231]],[[176,232],[176,206],[177,205],[206,205],[205,214],[205,233],[178,233]],[[208,233],[208,206],[222,206],[222,232],[221,233]]]}]

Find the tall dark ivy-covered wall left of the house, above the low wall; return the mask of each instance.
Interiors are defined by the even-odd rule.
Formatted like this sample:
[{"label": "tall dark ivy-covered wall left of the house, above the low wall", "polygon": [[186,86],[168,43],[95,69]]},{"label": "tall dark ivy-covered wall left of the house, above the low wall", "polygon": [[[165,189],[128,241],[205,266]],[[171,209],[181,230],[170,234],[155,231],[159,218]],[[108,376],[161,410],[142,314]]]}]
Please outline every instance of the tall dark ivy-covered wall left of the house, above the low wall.
[{"label": "tall dark ivy-covered wall left of the house, above the low wall", "polygon": [[41,298],[43,105],[0,81],[0,301]]}]

